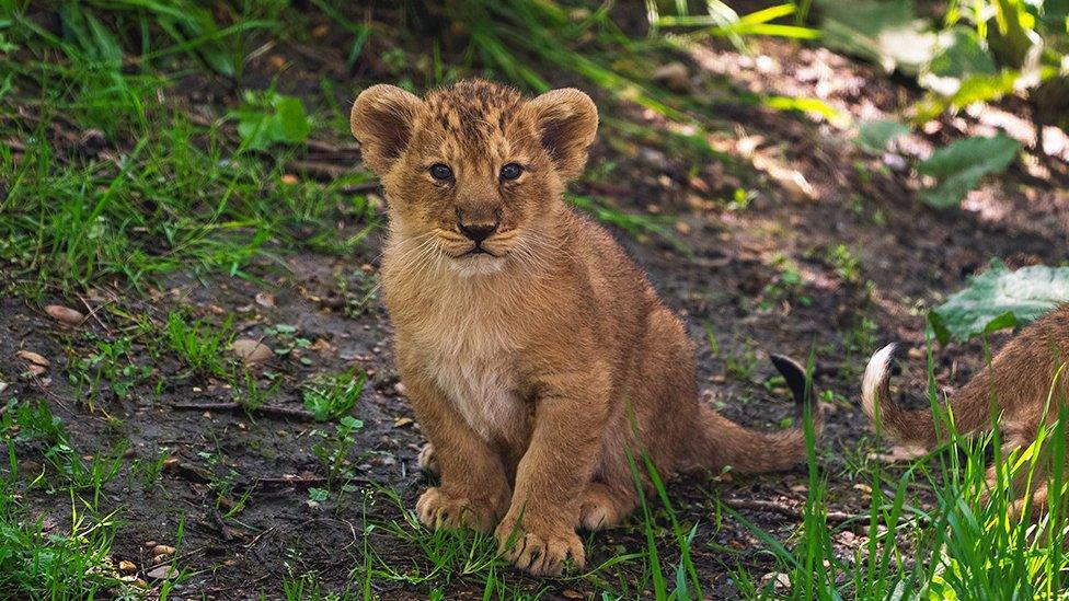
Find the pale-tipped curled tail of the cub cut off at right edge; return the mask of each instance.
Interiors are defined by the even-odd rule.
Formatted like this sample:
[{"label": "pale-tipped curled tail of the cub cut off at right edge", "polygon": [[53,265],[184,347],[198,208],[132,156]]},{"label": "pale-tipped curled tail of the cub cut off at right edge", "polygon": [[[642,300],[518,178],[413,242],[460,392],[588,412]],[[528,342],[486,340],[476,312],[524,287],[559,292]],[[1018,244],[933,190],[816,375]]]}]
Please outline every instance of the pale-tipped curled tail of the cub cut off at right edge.
[{"label": "pale-tipped curled tail of the cub cut off at right edge", "polygon": [[[903,444],[931,448],[940,439],[931,409],[906,409],[890,400],[890,362],[897,346],[889,344],[869,359],[861,383],[861,406],[877,432]],[[954,427],[961,434],[990,425],[990,371],[984,369],[950,398]]]}]

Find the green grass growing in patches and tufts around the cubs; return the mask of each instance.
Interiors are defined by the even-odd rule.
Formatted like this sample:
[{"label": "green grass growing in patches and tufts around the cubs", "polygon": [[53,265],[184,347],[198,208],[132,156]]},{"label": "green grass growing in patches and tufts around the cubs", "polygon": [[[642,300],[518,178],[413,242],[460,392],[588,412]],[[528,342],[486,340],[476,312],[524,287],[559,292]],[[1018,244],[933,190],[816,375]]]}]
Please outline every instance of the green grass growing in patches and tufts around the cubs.
[{"label": "green grass growing in patches and tufts around the cubs", "polygon": [[[354,20],[323,0],[312,4],[350,34],[343,54],[346,69],[352,69],[382,23]],[[662,33],[670,30],[671,35],[642,39],[623,33],[608,5],[584,13],[552,1],[459,2],[445,15],[458,27],[444,31],[464,32],[467,49],[460,60],[449,54],[453,45],[448,36],[424,48],[422,55],[432,63],[424,80],[401,48],[381,59],[384,68],[395,70],[398,83],[412,88],[479,72],[537,91],[550,85],[545,73],[566,73],[656,116],[656,126],[607,118],[610,137],[656,146],[688,164],[719,161],[733,172],[746,172],[738,159],[710,146],[709,131],[724,125],[705,116],[710,107],[648,83],[651,71],[655,62],[677,57],[686,44],[704,36],[723,36],[742,48],[750,35],[812,38],[813,30],[804,26],[808,3],[784,3],[750,15],[721,11],[709,18],[691,15],[680,5],[676,14],[651,16]],[[221,2],[218,13],[192,0],[66,3],[56,11],[67,26],[59,33],[27,16],[27,7],[0,0],[0,139],[16,142],[0,143],[3,292],[10,287],[39,300],[115,287],[129,291],[129,305],[116,311],[134,313],[145,299],[158,298],[153,293],[176,273],[205,281],[264,278],[284,269],[292,253],[349,256],[380,226],[367,173],[343,169],[321,178],[298,169],[309,141],[347,139],[344,99],[354,82],[323,78],[315,93],[303,90],[298,97],[278,91],[288,76],[260,81],[264,78],[246,71],[267,39],[307,42],[301,30],[307,19],[289,2]],[[793,24],[784,24],[785,19]],[[183,86],[198,78],[210,82],[209,92],[232,102],[193,102]],[[746,95],[739,102],[824,111],[805,99]],[[611,181],[620,174],[607,167],[602,177]],[[756,178],[742,180],[731,206],[745,210]],[[670,218],[630,211],[593,194],[572,201],[619,231],[643,241],[657,239],[679,256],[690,256],[673,233]],[[849,247],[835,247],[825,261],[843,281],[863,282],[862,266]],[[766,294],[772,301],[804,304],[796,270],[784,265],[779,276]],[[340,278],[338,288],[349,301],[346,310],[354,317],[372,312],[373,277],[359,276],[353,290],[345,289],[345,281]],[[146,327],[147,317],[140,315],[139,328],[88,340],[91,351],[67,375],[79,386],[78,397],[89,401],[90,415],[95,417],[113,398],[151,400],[146,394],[151,382],[157,395],[170,383],[165,380],[174,374],[154,374],[159,366],[137,363],[136,357],[146,355],[141,347],[153,361],[166,354],[199,378],[228,382],[246,409],[283,394],[278,374],[233,370],[226,355],[233,337],[231,321],[211,325],[184,311],[166,317],[159,339],[149,339],[153,327]],[[874,328],[861,321],[847,333],[851,356],[867,352]],[[280,356],[312,345],[296,326],[276,324],[265,333]],[[708,335],[733,379],[756,381],[757,359],[749,343],[722,351],[712,326]],[[725,340],[725,348],[736,346]],[[1062,574],[1069,568],[1061,547],[1064,512],[1035,525],[1007,519],[1012,500],[1007,475],[990,493],[990,502],[980,502],[985,466],[997,455],[998,440],[961,437],[906,466],[884,467],[863,455],[852,461],[848,479],[867,485],[872,498],[847,521],[827,517],[840,501],[839,492],[829,486],[831,475],[811,439],[807,498],[801,523],[786,536],[751,523],[719,502],[716,493],[702,499],[708,511],[682,507],[644,456],[632,458],[634,475],[646,473],[654,483],[652,493],[643,493],[636,515],[614,533],[587,538],[587,570],[560,581],[533,581],[497,559],[490,538],[428,532],[396,490],[359,479],[361,462],[376,456],[376,451],[357,448],[365,425],[350,415],[366,381],[363,370],[324,374],[298,392],[318,419],[336,421],[299,435],[307,437],[302,441],[314,456],[309,463],[318,460],[327,476],[325,488],[313,487],[307,497],[302,492],[300,502],[336,504],[340,515],[354,502],[363,506],[360,539],[353,548],[338,551],[347,583],[338,588],[332,574],[294,568],[277,587],[265,587],[265,598],[280,592],[287,599],[369,599],[383,586],[432,599],[450,598],[461,588],[478,589],[490,599],[550,597],[572,587],[595,590],[602,599],[701,598],[716,594],[696,564],[699,554],[711,552],[731,574],[731,585],[717,586],[733,586],[748,599],[885,599],[909,591],[930,599],[1064,594]],[[105,493],[128,483],[146,495],[163,494],[171,450],[157,448],[130,460],[125,440],[110,440],[84,454],[50,406],[36,396],[13,400],[0,415],[7,459],[0,462],[0,597],[138,597],[143,591],[115,568],[123,508],[105,508]],[[1065,464],[1061,417],[1045,435],[1059,467]],[[118,420],[110,417],[106,423]],[[220,521],[237,523],[256,499],[248,488],[229,509],[220,505],[235,493],[241,474],[223,460],[220,449],[228,442],[215,442],[214,453],[200,455],[210,467],[226,470],[208,482],[214,509],[223,510]],[[1041,460],[1037,450],[1025,449],[1004,463],[1030,470]],[[43,461],[28,470],[36,460]],[[1060,492],[1061,470],[1050,477]],[[65,513],[58,525],[36,511],[57,501]],[[1060,502],[1055,506],[1061,511]],[[757,548],[715,543],[726,528],[739,524],[758,541]],[[840,538],[848,531],[860,543],[843,555]],[[175,539],[182,539],[181,527]],[[752,571],[755,554],[771,557],[792,586],[777,588],[774,579]],[[166,598],[170,587],[168,581],[152,594]]]}]

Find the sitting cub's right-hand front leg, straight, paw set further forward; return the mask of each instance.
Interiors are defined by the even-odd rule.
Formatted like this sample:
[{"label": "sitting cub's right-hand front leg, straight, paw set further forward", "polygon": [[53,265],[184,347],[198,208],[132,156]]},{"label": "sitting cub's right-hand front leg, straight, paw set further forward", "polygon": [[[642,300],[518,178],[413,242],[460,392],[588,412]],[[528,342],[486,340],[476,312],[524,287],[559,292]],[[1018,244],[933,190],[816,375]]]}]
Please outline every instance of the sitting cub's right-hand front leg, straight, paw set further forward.
[{"label": "sitting cub's right-hand front leg, straight, paw set further forward", "polygon": [[534,385],[531,441],[495,532],[502,555],[521,569],[558,575],[568,558],[578,567],[586,563],[575,525],[609,414],[607,373],[554,374]]}]

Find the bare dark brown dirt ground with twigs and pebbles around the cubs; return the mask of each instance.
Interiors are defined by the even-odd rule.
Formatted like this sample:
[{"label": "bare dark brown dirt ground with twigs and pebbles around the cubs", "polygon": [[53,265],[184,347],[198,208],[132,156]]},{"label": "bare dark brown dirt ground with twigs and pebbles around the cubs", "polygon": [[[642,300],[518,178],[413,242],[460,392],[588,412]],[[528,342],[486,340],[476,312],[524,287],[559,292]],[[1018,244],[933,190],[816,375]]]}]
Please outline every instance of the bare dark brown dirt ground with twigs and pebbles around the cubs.
[{"label": "bare dark brown dirt ground with twigs and pebbles around the cubs", "polygon": [[[916,90],[828,50],[800,50],[779,42],[755,46],[752,56],[706,48],[689,65],[711,88],[720,86],[709,116],[732,124],[722,136],[721,150],[745,165],[745,173],[724,162],[694,165],[655,151],[628,152],[602,136],[591,170],[614,163],[612,184],[581,183],[574,190],[607,197],[623,211],[675,216],[673,229],[692,250],[692,257],[656,236],[636,240],[617,231],[617,238],[648,271],[666,302],[685,316],[698,346],[700,388],[728,416],[754,427],[778,427],[791,417],[792,408],[785,391],[763,385],[773,373],[767,357],[780,352],[805,358],[814,352],[816,390],[834,392],[825,402],[827,427],[819,442],[819,464],[832,509],[858,511],[867,506],[866,493],[855,486],[849,463],[876,447],[857,406],[859,375],[867,355],[892,340],[923,345],[926,309],[961,288],[992,257],[1011,267],[1056,265],[1069,258],[1069,194],[1065,192],[1069,170],[1064,157],[1037,148],[1042,126],[1032,123],[1024,103],[1010,100],[998,108],[947,117],[939,127],[909,136],[903,145],[905,153],[923,154],[934,145],[1000,127],[1026,139],[1025,161],[1004,176],[987,180],[964,208],[936,211],[917,199],[916,176],[897,169],[895,157],[865,154],[850,141],[849,132],[823,119],[732,100],[733,92],[818,96],[855,118],[874,118],[897,111],[917,96]],[[329,59],[323,62],[329,65]],[[373,70],[372,66],[361,73],[350,88],[373,80]],[[584,86],[581,81],[559,83]],[[728,93],[723,92],[725,83]],[[297,94],[307,90],[300,78],[284,81],[280,88]],[[701,86],[694,91],[696,96],[703,93]],[[191,103],[210,102],[203,99],[191,92]],[[640,111],[598,100],[602,112],[612,117],[650,123]],[[755,163],[765,169],[754,170]],[[807,187],[784,183],[777,176],[782,170],[800,174]],[[729,196],[739,178],[757,193],[748,206],[727,208],[706,201]],[[119,477],[103,492],[104,507],[122,509],[116,557],[146,565],[151,557],[145,543],[173,544],[184,522],[179,563],[193,575],[175,589],[176,597],[235,599],[261,591],[271,597],[284,578],[309,570],[317,571],[327,588],[343,586],[349,570],[364,560],[365,528],[402,518],[382,490],[395,492],[410,509],[414,506],[426,486],[415,469],[423,439],[399,394],[402,389],[390,358],[390,320],[377,300],[367,311],[353,310],[350,302],[373,278],[377,235],[356,255],[344,258],[284,254],[285,269],[264,262],[251,279],[215,276],[203,281],[179,275],[159,287],[157,298],[101,288],[84,299],[89,308],[131,307],[157,317],[168,307],[192,308],[209,319],[232,312],[238,315],[239,337],[263,337],[275,348],[285,340],[266,330],[294,326],[295,336],[313,344],[269,362],[267,369],[281,374],[283,381],[268,401],[272,405],[299,408],[300,385],[314,373],[340,372],[354,365],[366,369],[370,380],[355,409],[364,428],[355,435],[349,455],[354,466],[349,484],[357,492],[341,500],[333,496],[323,502],[309,500],[310,487],[327,484],[327,474],[312,452],[313,430],[321,425],[264,413],[250,417],[241,412],[177,408],[230,402],[232,391],[211,379],[183,375],[181,366],[168,357],[145,357],[158,374],[166,375],[152,380],[165,382],[162,389],[146,383],[127,400],[105,395],[88,406],[62,373],[73,357],[91,351],[89,335],[114,335],[115,320],[100,311],[99,319],[73,331],[57,325],[36,304],[18,298],[0,300],[0,357],[8,361],[19,349],[32,349],[53,361],[45,375],[48,382],[20,380],[7,395],[44,395],[55,415],[66,421],[76,449],[106,452],[126,439],[128,456],[151,460],[159,449],[169,450],[157,485],[146,487]],[[781,286],[785,265],[801,276],[800,284]],[[344,289],[340,281],[347,284]],[[262,292],[274,294],[273,305],[255,301]],[[70,303],[54,298],[42,304],[47,302]],[[706,339],[706,323],[719,350]],[[143,349],[136,346],[134,351]],[[935,356],[939,381],[952,388],[966,380],[982,354],[979,344],[972,344],[936,349]],[[911,363],[906,385],[920,386],[922,362],[915,357]],[[27,463],[24,467],[39,469],[33,461]],[[219,481],[229,483],[232,493],[218,495]],[[712,499],[742,501],[737,506],[747,519],[789,541],[798,525],[796,517],[746,508],[745,501],[796,508],[805,498],[806,482],[806,470],[800,466],[785,474],[731,482],[673,483],[670,494],[680,519],[700,524],[696,540],[701,544],[694,545],[693,556],[700,577],[709,583],[708,594],[736,594],[729,577],[734,565],[745,565],[754,574],[774,568],[771,556],[760,551],[763,545],[742,524],[725,518],[715,525]],[[225,520],[221,513],[246,492],[244,509]],[[69,520],[66,499],[37,490],[27,501],[59,523]],[[594,564],[598,554],[620,548],[640,552],[645,544],[635,529],[595,539]],[[857,544],[851,535],[837,540],[844,554]],[[388,533],[373,532],[370,542],[391,565],[425,560],[418,550]],[[734,553],[725,554],[723,547]],[[670,548],[665,553],[674,557]],[[508,578],[528,592],[544,587],[548,598],[565,591],[581,597],[597,592],[584,580]],[[425,597],[429,588],[401,581],[376,586],[375,594],[384,599]],[[478,583],[461,576],[449,582],[442,578],[438,586],[449,599],[482,594]]]}]

